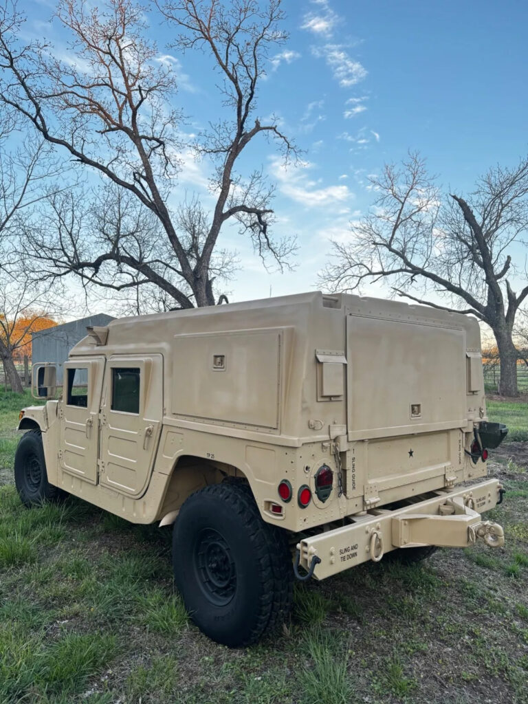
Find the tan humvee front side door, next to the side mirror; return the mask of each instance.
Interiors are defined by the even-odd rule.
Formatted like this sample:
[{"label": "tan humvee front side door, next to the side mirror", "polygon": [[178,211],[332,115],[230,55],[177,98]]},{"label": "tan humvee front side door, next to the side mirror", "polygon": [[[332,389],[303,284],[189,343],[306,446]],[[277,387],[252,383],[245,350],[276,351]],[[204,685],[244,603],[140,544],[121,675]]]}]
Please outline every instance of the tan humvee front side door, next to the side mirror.
[{"label": "tan humvee front side door, next to the side mirror", "polygon": [[97,483],[99,407],[105,358],[66,362],[63,396],[58,404],[61,469],[84,482]]}]

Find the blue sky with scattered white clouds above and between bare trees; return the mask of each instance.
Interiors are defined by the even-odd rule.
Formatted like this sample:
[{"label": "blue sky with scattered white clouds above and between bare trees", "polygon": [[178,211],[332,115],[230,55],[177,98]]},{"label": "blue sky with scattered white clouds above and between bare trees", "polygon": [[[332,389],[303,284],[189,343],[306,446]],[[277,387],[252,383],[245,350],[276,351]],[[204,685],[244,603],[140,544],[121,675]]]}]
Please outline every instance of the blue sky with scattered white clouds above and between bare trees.
[{"label": "blue sky with scattered white clouds above and between bare trees", "polygon": [[[27,30],[65,42],[48,0],[23,0]],[[351,220],[372,208],[369,175],[409,149],[427,158],[439,184],[458,194],[491,165],[515,165],[527,153],[528,4],[524,0],[284,0],[289,39],[272,53],[260,84],[257,115],[277,115],[303,150],[284,169],[265,139],[246,154],[277,184],[277,236],[296,235],[293,272],[267,272],[233,229],[222,246],[237,249],[241,269],[230,300],[313,289],[330,251]],[[172,30],[147,13],[159,60],[170,61],[178,101],[192,134],[215,119],[217,77],[206,56],[168,48]],[[208,165],[187,156],[177,194],[206,191]],[[383,296],[384,287],[364,287]]]}]

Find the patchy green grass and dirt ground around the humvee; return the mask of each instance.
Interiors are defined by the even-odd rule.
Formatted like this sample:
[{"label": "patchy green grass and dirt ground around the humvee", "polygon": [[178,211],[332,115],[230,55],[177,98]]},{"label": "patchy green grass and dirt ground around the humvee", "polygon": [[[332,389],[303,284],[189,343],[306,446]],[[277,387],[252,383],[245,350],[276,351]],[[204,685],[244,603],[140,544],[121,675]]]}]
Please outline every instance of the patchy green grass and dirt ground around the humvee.
[{"label": "patchy green grass and dirt ground around the humvee", "polygon": [[[282,634],[229,650],[187,619],[170,529],[73,498],[20,505],[13,428],[25,404],[0,396],[1,704],[528,702],[528,472],[510,458],[522,444],[490,463],[508,488],[486,514],[505,527],[504,548],[298,586]],[[510,406],[490,413],[522,430],[527,406]]]}]

